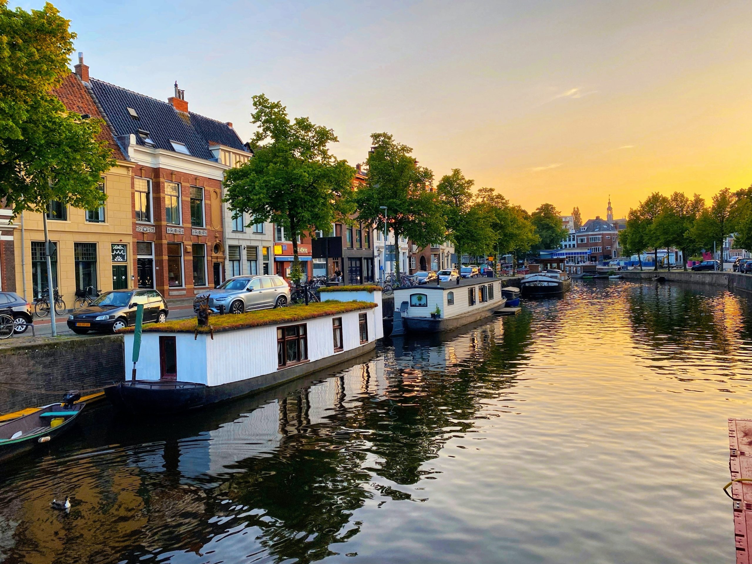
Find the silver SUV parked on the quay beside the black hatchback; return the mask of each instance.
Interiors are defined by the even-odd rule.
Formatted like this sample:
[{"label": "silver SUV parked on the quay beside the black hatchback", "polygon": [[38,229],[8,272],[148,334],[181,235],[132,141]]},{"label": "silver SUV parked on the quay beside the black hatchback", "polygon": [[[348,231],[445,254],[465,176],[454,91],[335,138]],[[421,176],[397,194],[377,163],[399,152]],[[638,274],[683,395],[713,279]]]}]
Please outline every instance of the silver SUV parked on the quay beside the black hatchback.
[{"label": "silver SUV parked on the quay beside the black hatchback", "polygon": [[[284,278],[272,274],[235,276],[201,294],[207,295],[209,308],[214,313],[223,310],[229,314],[242,314],[255,309],[284,308],[290,303],[290,286]],[[196,296],[194,309],[199,305],[199,297]]]}]

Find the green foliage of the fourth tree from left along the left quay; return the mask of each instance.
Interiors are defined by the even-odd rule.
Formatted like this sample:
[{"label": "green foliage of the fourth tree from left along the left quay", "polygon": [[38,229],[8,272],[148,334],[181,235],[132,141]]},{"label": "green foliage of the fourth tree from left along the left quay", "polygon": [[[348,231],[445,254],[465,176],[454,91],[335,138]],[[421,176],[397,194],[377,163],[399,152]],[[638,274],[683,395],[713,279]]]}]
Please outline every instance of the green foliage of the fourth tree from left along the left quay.
[{"label": "green foliage of the fourth tree from left along the left quay", "polygon": [[496,243],[496,233],[491,229],[493,214],[481,205],[471,192],[475,182],[465,178],[459,168],[453,168],[438,181],[438,198],[444,204],[447,231],[458,257],[485,255]]}]

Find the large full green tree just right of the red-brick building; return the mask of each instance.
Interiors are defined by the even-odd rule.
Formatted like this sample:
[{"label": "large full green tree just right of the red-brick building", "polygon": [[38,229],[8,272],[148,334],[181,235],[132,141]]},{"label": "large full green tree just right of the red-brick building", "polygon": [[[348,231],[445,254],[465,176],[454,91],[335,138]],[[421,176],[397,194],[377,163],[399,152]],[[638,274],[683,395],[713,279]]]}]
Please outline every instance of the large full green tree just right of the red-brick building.
[{"label": "large full green tree just right of the red-brick building", "polygon": [[296,284],[302,277],[298,238],[317,229],[329,232],[332,222],[354,211],[352,183],[355,169],[329,153],[337,137],[331,129],[308,117],[290,121],[281,102],[263,94],[253,96],[251,123],[258,130],[250,141],[253,158],[226,173],[224,201],[235,217],[253,223],[271,221],[282,226],[293,242]]}]

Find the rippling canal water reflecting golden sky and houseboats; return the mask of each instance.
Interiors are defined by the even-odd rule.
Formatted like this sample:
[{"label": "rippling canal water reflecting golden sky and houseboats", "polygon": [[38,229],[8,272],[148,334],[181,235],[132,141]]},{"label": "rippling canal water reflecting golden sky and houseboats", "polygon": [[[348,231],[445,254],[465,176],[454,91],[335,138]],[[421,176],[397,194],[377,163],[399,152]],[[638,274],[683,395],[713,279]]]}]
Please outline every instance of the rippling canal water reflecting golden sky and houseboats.
[{"label": "rippling canal water reflecting golden sky and houseboats", "polygon": [[0,561],[734,562],[750,345],[742,297],[578,280],[196,414],[92,406],[0,469]]}]

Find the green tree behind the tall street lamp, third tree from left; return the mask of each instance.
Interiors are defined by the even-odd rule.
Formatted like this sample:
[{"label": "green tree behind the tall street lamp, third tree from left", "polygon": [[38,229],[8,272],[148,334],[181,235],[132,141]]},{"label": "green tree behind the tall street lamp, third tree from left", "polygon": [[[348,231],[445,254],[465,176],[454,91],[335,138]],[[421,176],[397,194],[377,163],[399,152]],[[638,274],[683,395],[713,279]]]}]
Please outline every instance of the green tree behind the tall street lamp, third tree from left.
[{"label": "green tree behind the tall street lamp, third tree from left", "polygon": [[[444,241],[444,206],[429,190],[433,173],[418,166],[411,147],[396,142],[389,133],[372,134],[371,145],[368,181],[355,193],[358,217],[377,229],[384,229],[386,223],[395,241],[407,237],[418,247]],[[386,206],[386,214],[382,206]],[[399,259],[395,263],[399,275]]]}]

